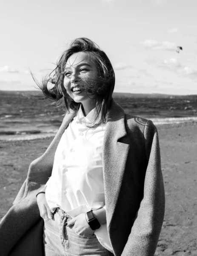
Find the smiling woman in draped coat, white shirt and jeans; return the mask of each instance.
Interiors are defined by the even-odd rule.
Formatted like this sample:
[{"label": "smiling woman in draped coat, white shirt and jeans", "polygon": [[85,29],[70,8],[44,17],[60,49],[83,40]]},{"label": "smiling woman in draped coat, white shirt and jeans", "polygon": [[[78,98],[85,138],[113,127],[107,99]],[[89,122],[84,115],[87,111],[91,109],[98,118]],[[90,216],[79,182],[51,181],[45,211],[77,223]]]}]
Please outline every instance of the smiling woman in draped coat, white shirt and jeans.
[{"label": "smiling woman in draped coat, white shirt and jeans", "polygon": [[72,41],[38,84],[66,115],[1,221],[0,241],[11,227],[13,238],[2,256],[154,255],[165,208],[157,129],[124,113],[114,84],[108,57],[87,38]]}]

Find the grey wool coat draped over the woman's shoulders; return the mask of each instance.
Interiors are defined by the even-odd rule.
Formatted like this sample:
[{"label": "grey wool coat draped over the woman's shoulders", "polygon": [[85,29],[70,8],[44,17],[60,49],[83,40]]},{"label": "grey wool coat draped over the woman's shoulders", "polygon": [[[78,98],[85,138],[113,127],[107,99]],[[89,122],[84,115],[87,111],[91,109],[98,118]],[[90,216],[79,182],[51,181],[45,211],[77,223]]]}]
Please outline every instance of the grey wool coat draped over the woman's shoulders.
[{"label": "grey wool coat draped over the woman's shoulders", "polygon": [[[44,255],[36,194],[51,176],[57,145],[74,116],[65,115],[49,148],[30,164],[13,206],[0,222],[0,256]],[[165,210],[157,129],[150,120],[124,113],[114,99],[103,142],[103,179],[114,255],[154,256]]]}]

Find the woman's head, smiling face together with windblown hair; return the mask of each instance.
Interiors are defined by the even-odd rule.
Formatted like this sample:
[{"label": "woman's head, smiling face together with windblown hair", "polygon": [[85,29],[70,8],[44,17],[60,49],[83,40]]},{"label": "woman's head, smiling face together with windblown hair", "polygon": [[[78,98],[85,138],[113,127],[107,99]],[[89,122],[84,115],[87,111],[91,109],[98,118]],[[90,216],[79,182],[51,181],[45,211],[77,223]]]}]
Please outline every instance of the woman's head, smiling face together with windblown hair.
[{"label": "woman's head, smiling face together with windblown hair", "polygon": [[[84,69],[81,64],[85,63]],[[86,94],[86,97],[91,99],[91,106],[93,107],[94,105],[95,107],[95,121],[100,118],[99,122],[93,126],[96,127],[106,121],[107,109],[114,91],[115,75],[106,53],[88,38],[77,38],[72,41],[70,47],[62,53],[57,61],[57,67],[48,77],[43,79],[41,84],[34,79],[44,94],[44,96],[36,97],[38,99],[52,99],[58,105],[63,105],[66,108],[66,112],[77,112],[80,108],[80,102],[75,102],[71,96],[77,93],[73,94],[72,92],[72,94],[69,94],[69,88],[66,90],[66,84],[68,84],[70,78],[72,86],[77,84],[73,82],[76,76],[80,80],[78,84],[80,84],[83,96]],[[48,89],[48,83],[52,83],[54,86]],[[101,113],[100,116],[99,113]]]}]

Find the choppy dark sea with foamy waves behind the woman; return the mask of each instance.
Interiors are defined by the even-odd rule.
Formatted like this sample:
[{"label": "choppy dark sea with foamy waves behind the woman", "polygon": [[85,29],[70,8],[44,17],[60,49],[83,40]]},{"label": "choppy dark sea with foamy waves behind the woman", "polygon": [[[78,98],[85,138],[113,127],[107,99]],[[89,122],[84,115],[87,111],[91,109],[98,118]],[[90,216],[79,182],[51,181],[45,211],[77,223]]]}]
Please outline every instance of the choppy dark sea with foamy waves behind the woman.
[{"label": "choppy dark sea with foamy waves behind the woman", "polygon": [[[0,141],[54,137],[64,109],[38,100],[35,92],[0,91]],[[126,113],[152,120],[154,125],[197,123],[197,96],[114,93]]]}]

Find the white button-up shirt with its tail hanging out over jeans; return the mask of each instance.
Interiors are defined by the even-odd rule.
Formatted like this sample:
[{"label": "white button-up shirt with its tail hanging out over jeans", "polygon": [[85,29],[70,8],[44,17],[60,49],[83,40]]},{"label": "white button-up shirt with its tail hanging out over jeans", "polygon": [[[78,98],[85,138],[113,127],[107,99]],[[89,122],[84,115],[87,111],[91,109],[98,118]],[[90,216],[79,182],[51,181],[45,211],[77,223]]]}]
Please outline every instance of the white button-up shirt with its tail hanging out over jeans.
[{"label": "white button-up shirt with its tail hanging out over jeans", "polygon": [[[71,217],[105,208],[102,154],[106,124],[96,128],[86,126],[95,115],[94,108],[85,117],[80,107],[60,139],[52,174],[46,183],[49,208],[61,207]],[[106,224],[94,234],[113,253]]]}]

